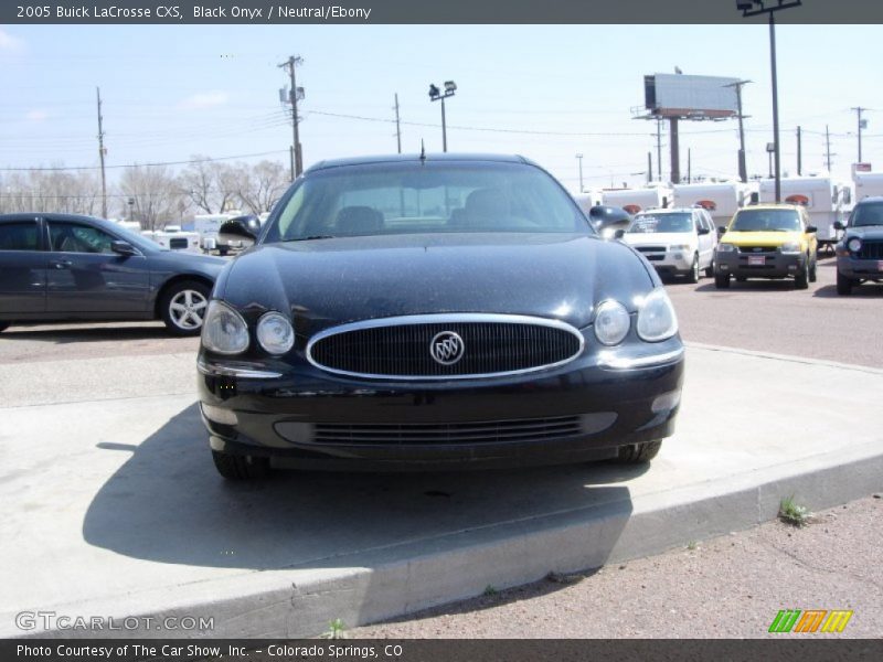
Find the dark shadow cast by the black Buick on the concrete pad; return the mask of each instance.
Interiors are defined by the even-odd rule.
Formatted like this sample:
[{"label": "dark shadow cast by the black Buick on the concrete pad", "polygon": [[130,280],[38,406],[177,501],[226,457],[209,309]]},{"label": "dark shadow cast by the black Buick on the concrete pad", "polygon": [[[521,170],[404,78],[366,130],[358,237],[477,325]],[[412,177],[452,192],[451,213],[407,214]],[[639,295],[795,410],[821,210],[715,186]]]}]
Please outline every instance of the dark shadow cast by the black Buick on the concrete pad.
[{"label": "dark shadow cast by the black Buick on the concrete pad", "polygon": [[[113,439],[108,452],[130,451]],[[85,513],[89,544],[161,564],[278,569],[372,567],[605,517],[583,567],[604,564],[648,466],[608,462],[506,471],[276,471],[257,482],[216,474],[196,405],[137,445]],[[549,569],[552,569],[551,567]]]}]

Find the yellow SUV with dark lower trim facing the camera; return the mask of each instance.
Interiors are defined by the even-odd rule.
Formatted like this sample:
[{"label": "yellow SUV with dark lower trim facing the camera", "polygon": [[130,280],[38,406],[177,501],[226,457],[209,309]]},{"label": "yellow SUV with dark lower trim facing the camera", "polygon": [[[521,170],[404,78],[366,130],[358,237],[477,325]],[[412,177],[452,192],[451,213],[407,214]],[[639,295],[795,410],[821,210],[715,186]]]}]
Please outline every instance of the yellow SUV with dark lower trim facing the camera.
[{"label": "yellow SUV with dark lower trim facing the camera", "polygon": [[730,278],[794,278],[797,289],[816,282],[816,227],[807,211],[792,204],[763,204],[742,209],[714,252],[714,285],[730,287]]}]

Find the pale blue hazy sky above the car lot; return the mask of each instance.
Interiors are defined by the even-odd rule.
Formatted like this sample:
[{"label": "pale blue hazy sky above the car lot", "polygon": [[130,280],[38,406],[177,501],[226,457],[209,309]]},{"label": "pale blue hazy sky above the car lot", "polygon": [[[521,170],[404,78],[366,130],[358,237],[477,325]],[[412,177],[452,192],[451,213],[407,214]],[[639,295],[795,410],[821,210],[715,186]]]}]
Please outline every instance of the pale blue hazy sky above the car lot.
[{"label": "pale blue hazy sky above the car lot", "polygon": [[[783,171],[883,168],[883,39],[879,25],[777,26]],[[288,83],[277,65],[300,55],[304,164],[396,151],[442,151],[430,83],[446,102],[449,151],[520,153],[572,191],[640,184],[656,168],[656,122],[634,119],[643,76],[730,76],[743,89],[748,172],[767,173],[773,113],[766,24],[734,25],[6,25],[0,26],[0,178],[10,169],[98,166],[96,86],[108,178],[131,163],[200,154],[288,164]],[[663,179],[669,177],[663,130]],[[681,172],[735,177],[735,120],[681,122]],[[173,166],[178,169],[182,166]]]}]

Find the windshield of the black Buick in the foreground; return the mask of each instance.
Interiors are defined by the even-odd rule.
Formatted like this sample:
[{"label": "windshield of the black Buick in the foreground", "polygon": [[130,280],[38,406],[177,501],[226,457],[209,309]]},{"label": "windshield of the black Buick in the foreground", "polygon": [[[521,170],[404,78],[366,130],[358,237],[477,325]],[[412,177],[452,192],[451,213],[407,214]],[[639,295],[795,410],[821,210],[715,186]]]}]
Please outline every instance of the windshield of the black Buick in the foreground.
[{"label": "windshield of the black Buick in the foreground", "polygon": [[411,161],[308,173],[262,243],[453,232],[594,233],[567,193],[524,163]]}]

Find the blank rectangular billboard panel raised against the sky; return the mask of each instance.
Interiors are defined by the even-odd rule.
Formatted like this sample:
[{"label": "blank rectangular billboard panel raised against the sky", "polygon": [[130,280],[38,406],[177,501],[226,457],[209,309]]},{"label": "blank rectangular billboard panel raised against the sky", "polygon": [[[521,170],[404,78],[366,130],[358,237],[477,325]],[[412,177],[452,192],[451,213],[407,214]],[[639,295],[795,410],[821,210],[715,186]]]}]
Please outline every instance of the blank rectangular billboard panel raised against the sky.
[{"label": "blank rectangular billboard panel raised against the sky", "polygon": [[643,77],[645,106],[652,117],[727,119],[738,115],[738,78],[653,74]]}]

